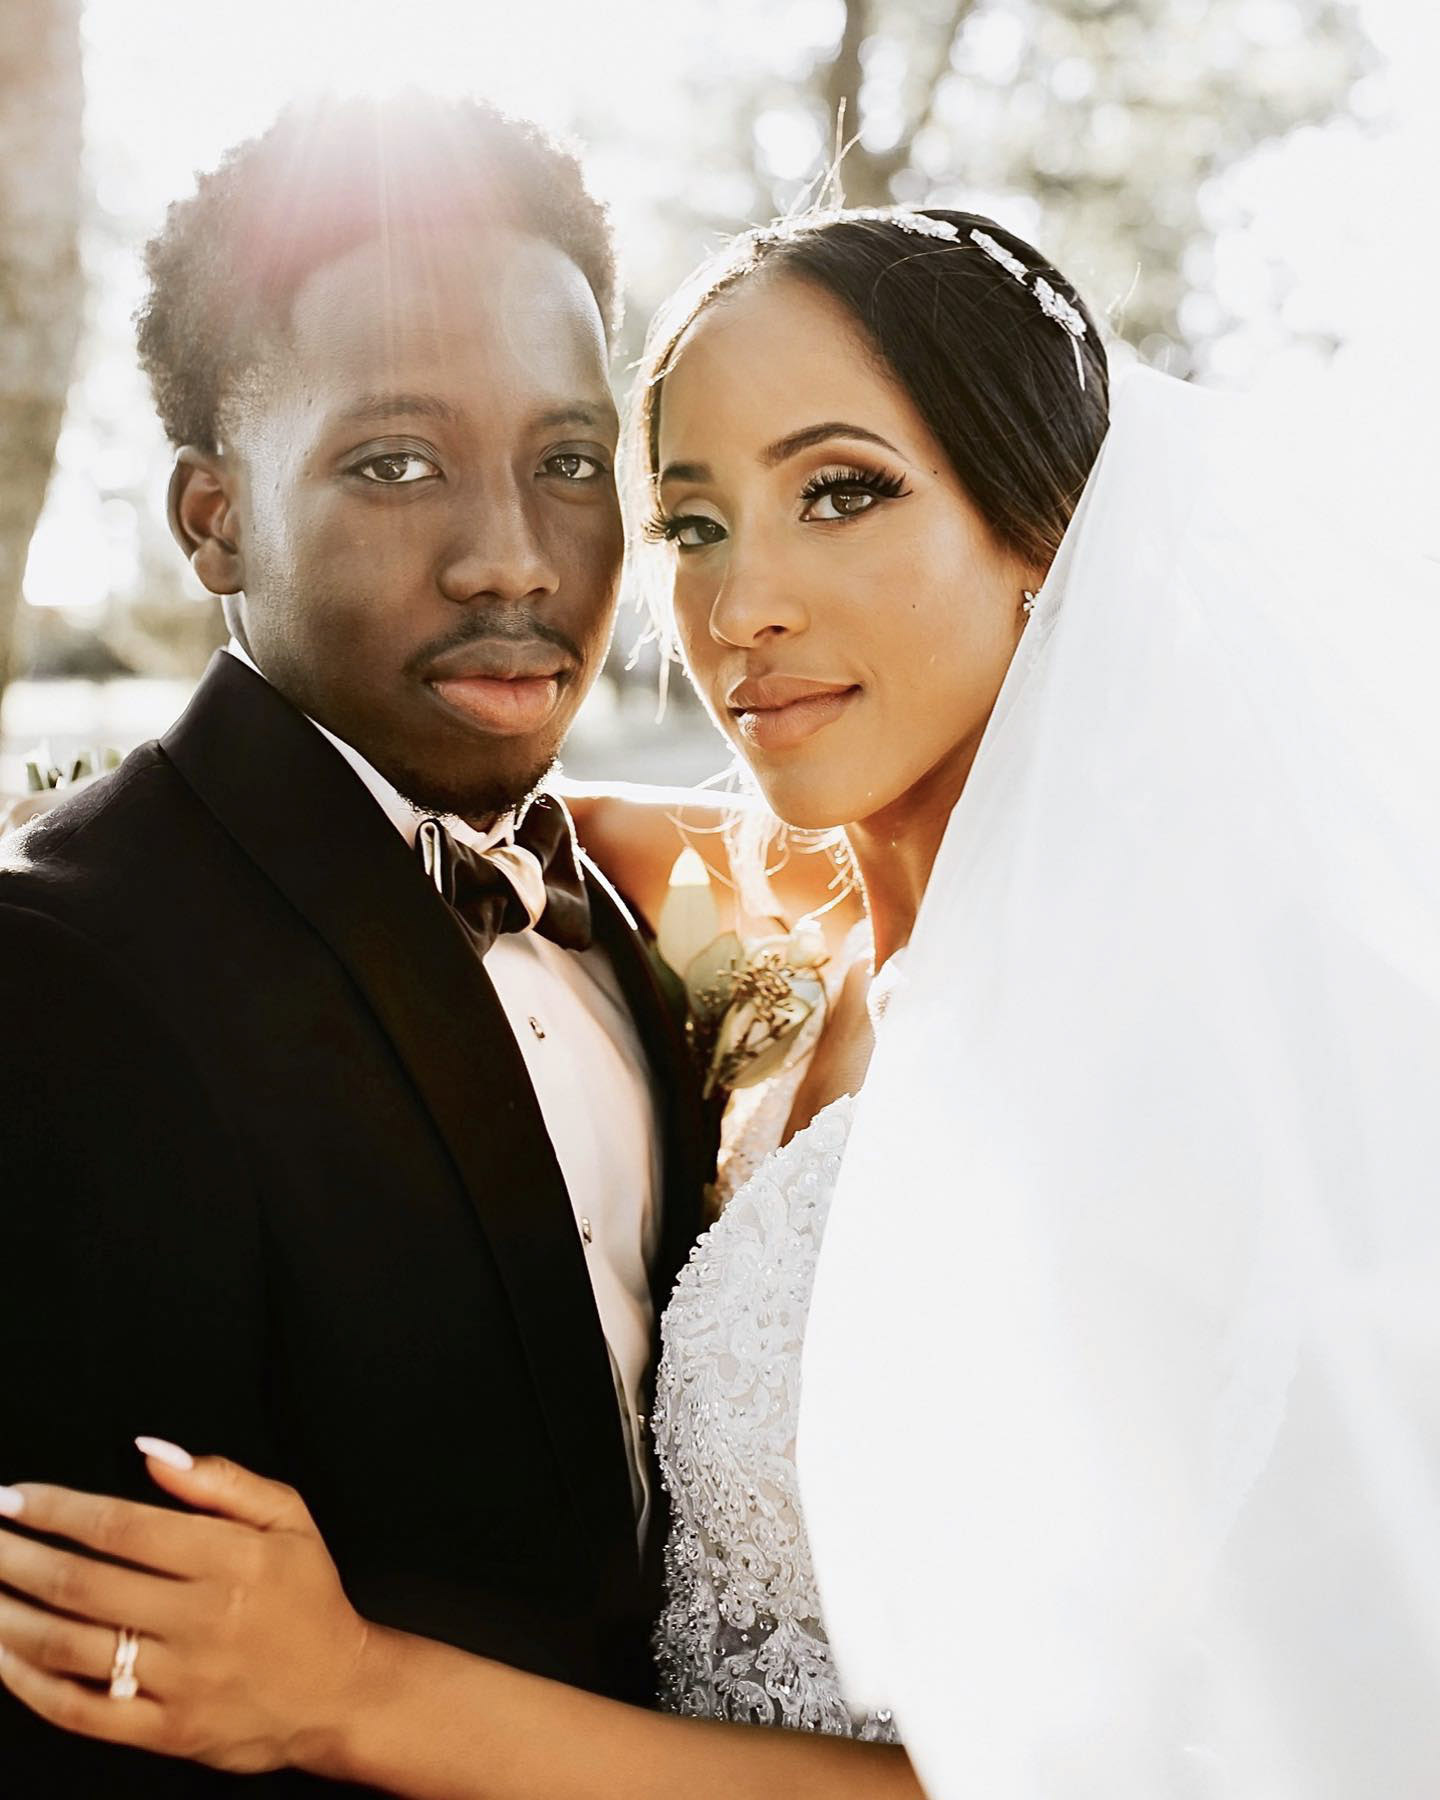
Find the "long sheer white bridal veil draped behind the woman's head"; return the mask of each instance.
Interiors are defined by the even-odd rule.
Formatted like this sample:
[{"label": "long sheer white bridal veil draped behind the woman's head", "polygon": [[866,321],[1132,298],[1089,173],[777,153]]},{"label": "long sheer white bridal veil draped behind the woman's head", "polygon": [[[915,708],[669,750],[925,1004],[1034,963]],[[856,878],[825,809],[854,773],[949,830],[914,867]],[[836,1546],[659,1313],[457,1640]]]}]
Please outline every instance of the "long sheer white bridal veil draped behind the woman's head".
[{"label": "long sheer white bridal veil draped behind the woman's head", "polygon": [[1120,383],[880,1026],[799,1467],[936,1800],[1440,1793],[1440,598],[1307,448]]}]

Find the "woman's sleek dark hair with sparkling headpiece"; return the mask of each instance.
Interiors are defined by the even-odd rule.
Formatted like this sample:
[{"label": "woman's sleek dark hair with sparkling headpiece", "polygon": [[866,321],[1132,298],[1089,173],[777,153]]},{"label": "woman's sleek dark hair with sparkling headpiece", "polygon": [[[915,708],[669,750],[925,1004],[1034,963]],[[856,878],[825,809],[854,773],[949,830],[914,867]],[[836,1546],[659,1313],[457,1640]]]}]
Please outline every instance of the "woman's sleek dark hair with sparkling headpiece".
[{"label": "woman's sleek dark hair with sparkling headpiece", "polygon": [[[736,238],[661,310],[635,387],[630,455],[653,488],[664,378],[698,315],[742,283],[787,274],[853,315],[934,434],[995,538],[1049,567],[1109,423],[1100,328],[1071,283],[1022,238],[977,212],[925,207],[916,223],[873,212],[787,220]],[[950,227],[934,234],[923,221]],[[1024,283],[970,236],[1024,265]],[[1075,338],[1035,283],[1075,308]],[[1084,365],[1084,387],[1076,369]]]}]

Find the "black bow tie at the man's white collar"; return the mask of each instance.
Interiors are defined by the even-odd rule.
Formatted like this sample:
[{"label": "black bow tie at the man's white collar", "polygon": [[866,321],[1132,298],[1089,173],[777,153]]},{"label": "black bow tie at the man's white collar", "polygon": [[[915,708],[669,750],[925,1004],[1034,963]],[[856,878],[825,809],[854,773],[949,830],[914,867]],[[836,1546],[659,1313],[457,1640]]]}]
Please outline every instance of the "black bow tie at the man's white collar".
[{"label": "black bow tie at the man's white collar", "polygon": [[540,794],[526,806],[513,846],[472,850],[439,819],[425,819],[416,850],[425,873],[459,913],[479,956],[502,932],[531,927],[563,950],[589,949],[590,896],[576,860],[571,815],[553,796]]}]

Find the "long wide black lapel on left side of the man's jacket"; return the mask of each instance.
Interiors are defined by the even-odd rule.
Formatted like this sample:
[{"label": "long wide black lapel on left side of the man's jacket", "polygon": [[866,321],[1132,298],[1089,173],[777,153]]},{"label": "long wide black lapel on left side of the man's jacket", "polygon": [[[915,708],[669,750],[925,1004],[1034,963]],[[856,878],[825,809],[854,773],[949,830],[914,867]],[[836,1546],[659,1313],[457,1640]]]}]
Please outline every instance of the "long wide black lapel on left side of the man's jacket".
[{"label": "long wide black lapel on left side of the man's jacket", "polygon": [[495,988],[418,859],[274,688],[218,655],[162,749],[346,965],[484,1228],[578,1523],[634,1532],[608,1352],[585,1251]]}]

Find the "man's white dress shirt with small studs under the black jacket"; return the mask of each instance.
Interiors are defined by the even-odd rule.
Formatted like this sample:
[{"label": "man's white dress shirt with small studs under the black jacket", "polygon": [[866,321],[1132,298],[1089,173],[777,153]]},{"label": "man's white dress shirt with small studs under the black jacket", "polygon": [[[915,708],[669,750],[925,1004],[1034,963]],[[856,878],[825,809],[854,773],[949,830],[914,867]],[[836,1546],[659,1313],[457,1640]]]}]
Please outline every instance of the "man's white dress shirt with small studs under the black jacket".
[{"label": "man's white dress shirt with small studs under the black jacket", "polygon": [[[265,679],[236,637],[225,648]],[[405,842],[414,844],[428,815],[349,743],[317,720],[310,724],[344,756]],[[443,824],[475,850],[500,842],[513,828],[509,819],[490,833],[463,819],[446,817]],[[643,1546],[650,1521],[643,1444],[653,1327],[650,1262],[659,1235],[661,1184],[661,1121],[650,1067],[603,950],[562,950],[535,931],[504,932],[486,952],[484,968],[524,1057],[585,1244]]]}]

